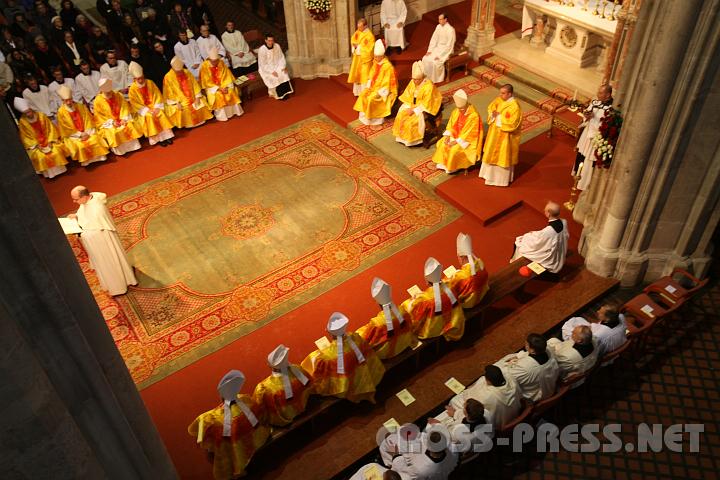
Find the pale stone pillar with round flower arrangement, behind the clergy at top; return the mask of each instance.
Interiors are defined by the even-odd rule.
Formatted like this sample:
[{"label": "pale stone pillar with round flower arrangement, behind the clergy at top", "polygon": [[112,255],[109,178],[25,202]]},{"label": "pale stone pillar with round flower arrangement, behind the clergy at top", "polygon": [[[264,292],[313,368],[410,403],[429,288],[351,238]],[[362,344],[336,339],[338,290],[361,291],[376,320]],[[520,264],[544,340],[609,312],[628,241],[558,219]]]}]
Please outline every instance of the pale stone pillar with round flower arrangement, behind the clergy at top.
[{"label": "pale stone pillar with round flower arrangement, behind the clergy at top", "polygon": [[350,70],[350,36],[355,31],[356,2],[335,0],[330,18],[310,17],[305,2],[283,2],[288,36],[286,58],[293,77],[329,77]]}]

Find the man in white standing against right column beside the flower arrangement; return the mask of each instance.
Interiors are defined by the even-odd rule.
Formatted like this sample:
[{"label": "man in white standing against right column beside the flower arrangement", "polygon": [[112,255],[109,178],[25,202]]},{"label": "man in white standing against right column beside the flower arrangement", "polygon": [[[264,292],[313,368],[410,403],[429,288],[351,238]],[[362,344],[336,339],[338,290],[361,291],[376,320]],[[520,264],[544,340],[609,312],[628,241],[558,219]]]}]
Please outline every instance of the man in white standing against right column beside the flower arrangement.
[{"label": "man in white standing against right column beside the flower arrangement", "polygon": [[[610,85],[600,85],[597,92],[597,98],[594,98],[585,110],[583,117],[585,121],[580,125],[585,127],[580,134],[578,143],[575,146],[577,156],[575,157],[575,165],[572,169],[572,175],[577,176],[580,170],[580,181],[578,182],[578,190],[587,190],[592,179],[593,165],[595,164],[595,135],[600,131],[600,123],[607,112],[612,107],[612,87]],[[582,164],[582,168],[580,165]]]}]

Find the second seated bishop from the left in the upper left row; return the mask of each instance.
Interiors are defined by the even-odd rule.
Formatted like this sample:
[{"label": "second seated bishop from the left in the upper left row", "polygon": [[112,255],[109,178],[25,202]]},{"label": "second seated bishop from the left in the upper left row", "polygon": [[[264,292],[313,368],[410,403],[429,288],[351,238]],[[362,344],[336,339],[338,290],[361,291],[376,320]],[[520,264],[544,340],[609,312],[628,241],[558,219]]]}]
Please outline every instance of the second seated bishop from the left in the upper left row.
[{"label": "second seated bishop from the left in the upper left row", "polygon": [[90,110],[84,103],[73,100],[72,90],[65,85],[58,87],[57,94],[62,100],[57,113],[58,130],[70,158],[83,167],[105,161],[108,148],[95,130]]}]

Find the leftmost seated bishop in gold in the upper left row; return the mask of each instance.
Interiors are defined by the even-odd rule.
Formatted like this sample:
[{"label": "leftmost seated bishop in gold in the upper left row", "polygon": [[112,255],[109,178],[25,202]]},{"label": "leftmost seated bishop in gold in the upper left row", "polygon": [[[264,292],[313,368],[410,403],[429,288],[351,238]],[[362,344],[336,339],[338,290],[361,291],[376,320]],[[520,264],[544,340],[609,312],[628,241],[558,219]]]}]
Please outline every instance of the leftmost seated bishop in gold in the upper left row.
[{"label": "leftmost seated bishop in gold in the upper left row", "polygon": [[67,171],[65,143],[47,115],[33,110],[30,103],[21,97],[15,97],[13,105],[22,114],[18,122],[20,141],[35,172],[53,178]]}]

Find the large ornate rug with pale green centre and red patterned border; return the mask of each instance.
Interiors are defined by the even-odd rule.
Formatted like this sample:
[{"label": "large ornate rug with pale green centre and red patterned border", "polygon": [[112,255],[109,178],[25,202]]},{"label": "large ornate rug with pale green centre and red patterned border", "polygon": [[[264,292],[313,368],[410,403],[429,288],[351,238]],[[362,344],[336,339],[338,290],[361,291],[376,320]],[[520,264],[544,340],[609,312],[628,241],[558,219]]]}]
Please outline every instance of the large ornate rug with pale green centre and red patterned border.
[{"label": "large ornate rug with pale green centre and red patterned border", "polygon": [[80,265],[139,388],[319,296],[459,213],[316,116],[114,196],[139,285]]}]

